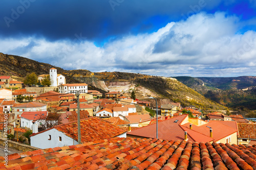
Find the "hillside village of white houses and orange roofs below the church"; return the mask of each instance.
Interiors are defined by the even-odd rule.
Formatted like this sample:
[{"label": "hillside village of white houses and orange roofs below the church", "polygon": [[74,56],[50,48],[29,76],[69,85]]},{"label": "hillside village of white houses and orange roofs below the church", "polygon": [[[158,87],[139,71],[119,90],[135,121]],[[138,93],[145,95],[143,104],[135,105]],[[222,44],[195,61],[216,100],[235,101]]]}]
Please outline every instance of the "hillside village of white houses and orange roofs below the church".
[{"label": "hillside village of white houses and orange roofs below the church", "polygon": [[[42,81],[47,76],[40,75],[38,80]],[[132,96],[124,96],[119,91],[103,94],[88,90],[86,83],[66,84],[65,76],[57,74],[55,68],[49,70],[49,77],[55,90],[39,95],[27,91],[23,82],[10,76],[0,77],[0,143],[5,145],[4,141],[9,139],[12,144],[8,147],[27,153],[25,157],[33,156],[35,151],[40,151],[39,155],[46,154],[49,149],[53,153],[59,150],[71,152],[71,146],[79,145],[78,108],[81,144],[96,142],[102,145],[110,141],[130,144],[139,141],[137,143],[141,144],[147,141],[151,144],[180,144],[184,149],[186,142],[187,145],[203,142],[207,147],[209,144],[226,143],[239,147],[254,146],[251,150],[255,154],[256,124],[242,115],[203,114],[200,108],[182,107],[180,103],[156,107],[148,100],[132,99]],[[17,154],[10,157],[20,157]],[[97,167],[100,166],[97,164]]]}]

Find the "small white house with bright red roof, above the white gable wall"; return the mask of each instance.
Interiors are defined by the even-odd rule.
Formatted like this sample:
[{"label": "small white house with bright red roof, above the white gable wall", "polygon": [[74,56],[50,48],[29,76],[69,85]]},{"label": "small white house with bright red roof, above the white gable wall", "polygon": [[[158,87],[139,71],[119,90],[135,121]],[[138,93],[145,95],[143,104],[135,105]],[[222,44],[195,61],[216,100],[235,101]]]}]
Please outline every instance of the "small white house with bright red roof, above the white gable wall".
[{"label": "small white house with bright red roof, above the white gable wall", "polygon": [[32,125],[42,123],[44,124],[45,119],[48,115],[48,111],[38,112],[23,112],[20,115],[20,126],[32,129]]}]

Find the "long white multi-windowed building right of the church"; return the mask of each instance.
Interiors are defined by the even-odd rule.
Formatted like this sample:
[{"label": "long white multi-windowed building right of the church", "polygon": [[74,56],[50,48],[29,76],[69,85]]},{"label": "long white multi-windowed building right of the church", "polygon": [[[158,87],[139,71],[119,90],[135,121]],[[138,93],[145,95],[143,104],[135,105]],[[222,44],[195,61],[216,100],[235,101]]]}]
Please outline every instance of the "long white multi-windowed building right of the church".
[{"label": "long white multi-windowed building right of the church", "polygon": [[80,93],[88,92],[88,85],[86,83],[77,83],[77,84],[61,84],[58,86],[60,93],[76,93],[77,90]]}]

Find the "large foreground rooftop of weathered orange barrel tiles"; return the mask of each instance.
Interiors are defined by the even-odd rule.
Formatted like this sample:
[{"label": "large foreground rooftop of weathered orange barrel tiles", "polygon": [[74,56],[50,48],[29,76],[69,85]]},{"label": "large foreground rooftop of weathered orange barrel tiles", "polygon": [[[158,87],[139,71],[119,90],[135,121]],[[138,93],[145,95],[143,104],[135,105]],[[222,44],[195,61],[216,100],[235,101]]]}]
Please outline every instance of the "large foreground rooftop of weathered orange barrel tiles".
[{"label": "large foreground rooftop of weathered orange barrel tiles", "polygon": [[2,169],[255,169],[256,145],[111,138],[8,156]]}]

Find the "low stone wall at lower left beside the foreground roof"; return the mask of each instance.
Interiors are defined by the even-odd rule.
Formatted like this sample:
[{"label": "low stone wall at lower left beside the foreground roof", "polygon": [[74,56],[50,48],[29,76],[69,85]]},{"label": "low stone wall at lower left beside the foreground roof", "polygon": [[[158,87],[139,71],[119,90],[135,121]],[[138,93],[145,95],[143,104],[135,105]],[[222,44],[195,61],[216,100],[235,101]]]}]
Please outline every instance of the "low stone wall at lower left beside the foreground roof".
[{"label": "low stone wall at lower left beside the foreground roof", "polygon": [[12,140],[6,140],[5,138],[0,138],[0,145],[5,146],[6,145],[5,141],[8,141],[8,148],[12,148],[18,151],[27,152],[27,151],[39,150],[39,148],[31,147],[30,145],[18,143]]}]

